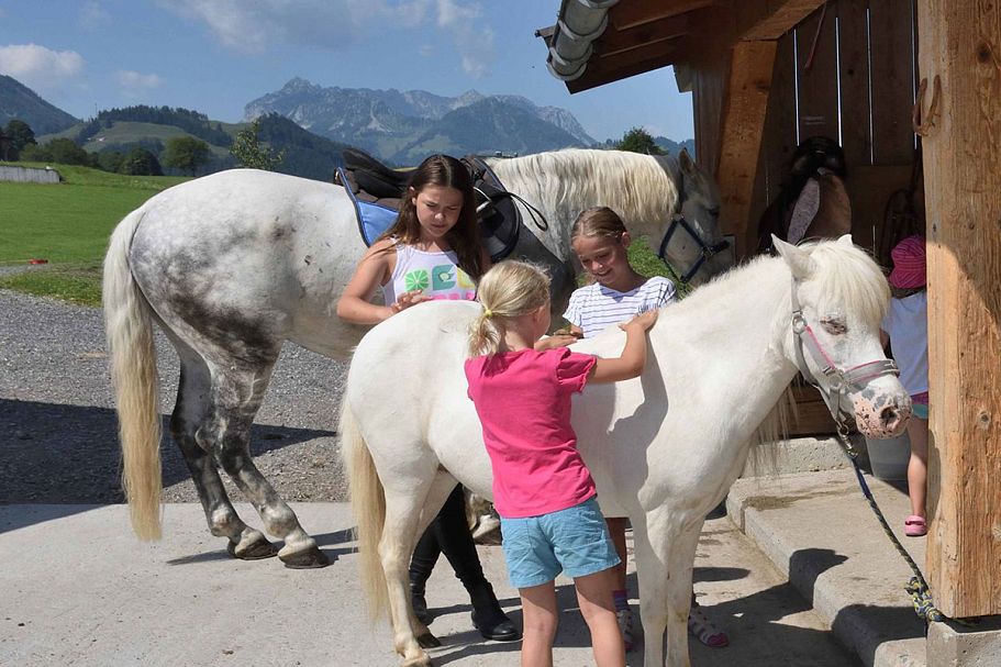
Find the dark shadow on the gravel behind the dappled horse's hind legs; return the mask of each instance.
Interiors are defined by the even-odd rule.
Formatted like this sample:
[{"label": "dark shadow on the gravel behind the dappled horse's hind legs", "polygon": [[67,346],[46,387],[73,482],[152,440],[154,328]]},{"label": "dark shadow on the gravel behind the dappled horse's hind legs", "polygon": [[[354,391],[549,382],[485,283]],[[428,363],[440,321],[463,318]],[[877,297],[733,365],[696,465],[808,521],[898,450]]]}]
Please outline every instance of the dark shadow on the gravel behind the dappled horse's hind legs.
[{"label": "dark shadow on the gravel behind the dappled horse's hind legs", "polygon": [[[0,504],[65,505],[63,515],[85,511],[87,505],[124,502],[121,453],[114,410],[0,399]],[[189,479],[188,468],[170,441],[164,418],[162,443],[164,487]],[[254,425],[254,456],[293,446],[330,431]],[[82,508],[82,509],[81,509]],[[58,513],[58,512],[56,512]],[[49,519],[57,518],[46,513]],[[0,532],[37,522],[4,522]]]}]

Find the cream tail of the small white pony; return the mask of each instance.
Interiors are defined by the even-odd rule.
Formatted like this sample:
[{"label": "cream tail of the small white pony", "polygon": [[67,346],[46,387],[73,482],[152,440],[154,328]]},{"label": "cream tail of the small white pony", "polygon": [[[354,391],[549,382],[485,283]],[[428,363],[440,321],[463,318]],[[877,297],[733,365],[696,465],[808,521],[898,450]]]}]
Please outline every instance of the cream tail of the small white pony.
[{"label": "cream tail of the small white pony", "polygon": [[358,430],[347,397],[341,402],[341,456],[348,474],[355,536],[362,557],[362,590],[368,600],[368,615],[375,622],[386,615],[389,594],[379,555],[379,541],[386,523],[386,494],[376,464]]}]

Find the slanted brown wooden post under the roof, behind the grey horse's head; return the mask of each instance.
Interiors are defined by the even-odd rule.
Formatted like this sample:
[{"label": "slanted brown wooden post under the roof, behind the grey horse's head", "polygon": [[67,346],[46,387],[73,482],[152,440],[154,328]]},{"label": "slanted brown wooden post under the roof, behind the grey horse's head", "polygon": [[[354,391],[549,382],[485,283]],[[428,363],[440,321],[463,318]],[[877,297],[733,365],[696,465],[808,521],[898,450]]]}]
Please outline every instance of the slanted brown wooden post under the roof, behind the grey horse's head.
[{"label": "slanted brown wooden post under the roof, behind the grey horse's head", "polygon": [[724,234],[736,238],[737,259],[746,256],[758,153],[768,110],[776,42],[738,42],[733,47],[730,85],[723,103],[722,142],[716,181]]}]

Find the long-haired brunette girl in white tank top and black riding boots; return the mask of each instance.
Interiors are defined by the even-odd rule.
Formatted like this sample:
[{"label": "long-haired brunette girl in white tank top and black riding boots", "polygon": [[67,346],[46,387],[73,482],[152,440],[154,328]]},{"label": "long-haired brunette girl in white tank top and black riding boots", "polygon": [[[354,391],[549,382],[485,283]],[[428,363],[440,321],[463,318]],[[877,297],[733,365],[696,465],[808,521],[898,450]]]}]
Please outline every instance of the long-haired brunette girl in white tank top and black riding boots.
[{"label": "long-haired brunette girl in white tank top and black riding boots", "polygon": [[[476,223],[469,173],[454,157],[433,155],[411,176],[396,222],[358,263],[337,301],[337,315],[356,324],[377,324],[423,301],[472,300],[475,280],[489,266]],[[385,305],[370,302],[380,288]],[[431,614],[424,586],[442,553],[469,593],[472,625],[483,638],[519,640],[518,627],[483,576],[458,486],[421,536],[410,562],[413,609],[425,624]]]}]

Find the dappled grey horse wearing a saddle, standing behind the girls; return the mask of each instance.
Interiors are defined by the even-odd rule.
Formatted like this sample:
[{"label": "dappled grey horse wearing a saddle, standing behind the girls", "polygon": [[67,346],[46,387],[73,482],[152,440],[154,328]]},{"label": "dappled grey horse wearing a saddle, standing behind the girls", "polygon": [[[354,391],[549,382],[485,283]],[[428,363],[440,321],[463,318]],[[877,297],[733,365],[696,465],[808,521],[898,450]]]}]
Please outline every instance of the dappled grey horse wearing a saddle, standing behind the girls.
[{"label": "dappled grey horse wearing a saddle, standing behind the girls", "polygon": [[[615,151],[561,151],[488,160],[507,188],[548,221],[545,234],[521,234],[514,256],[548,263],[555,301],[574,287],[569,229],[577,213],[609,205],[636,235],[665,237],[692,282],[720,270],[701,263],[720,242],[715,186],[691,162]],[[526,220],[527,210],[523,211]],[[667,235],[676,219],[683,233]],[[675,227],[670,227],[675,229]],[[355,211],[340,186],[236,169],[170,188],[130,213],[111,237],[103,301],[112,357],[124,487],[136,533],[160,534],[159,399],[152,323],[180,357],[170,429],[213,535],[238,558],[275,547],[237,516],[221,466],[283,540],[289,566],[327,559],[251,460],[251,424],[285,341],[345,358],[366,327],[341,321],[334,305],[365,252]],[[543,247],[544,246],[544,247]],[[700,265],[701,263],[701,265]],[[559,311],[561,312],[561,311]],[[558,314],[558,313],[557,313]]]}]

